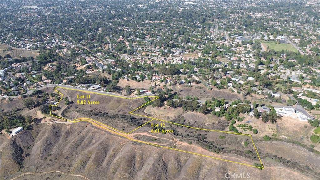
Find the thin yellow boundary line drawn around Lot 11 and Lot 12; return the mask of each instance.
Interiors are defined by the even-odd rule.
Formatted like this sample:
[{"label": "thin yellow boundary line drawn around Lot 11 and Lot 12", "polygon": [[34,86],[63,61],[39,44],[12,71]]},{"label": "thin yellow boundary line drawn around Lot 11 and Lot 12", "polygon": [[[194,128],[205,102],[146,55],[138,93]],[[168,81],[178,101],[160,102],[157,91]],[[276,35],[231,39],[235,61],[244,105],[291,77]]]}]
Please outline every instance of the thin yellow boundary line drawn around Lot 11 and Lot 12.
[{"label": "thin yellow boundary line drawn around Lot 11 and Lot 12", "polygon": [[[58,92],[58,93],[61,94],[62,96],[61,96],[59,102],[57,103],[57,105],[49,105],[49,109],[50,109],[50,115],[51,115],[51,116],[54,116],[54,117],[56,117],[56,118],[60,118],[60,117],[58,117],[58,116],[55,116],[55,115],[52,115],[52,114],[51,114],[51,106],[57,107],[58,104],[60,103],[62,97],[63,97],[63,94],[56,90],[57,87],[59,87],[59,86],[56,86],[56,88],[54,89],[54,91]],[[96,92],[90,92],[90,91],[84,91],[84,90],[71,89],[71,88],[67,88],[67,87],[59,87],[59,88],[62,88],[62,89],[70,89],[70,90],[74,90],[74,91],[81,91],[81,92],[86,92],[86,93],[101,94],[101,93],[96,93]],[[128,97],[121,97],[121,96],[115,96],[115,95],[109,95],[109,94],[101,94],[101,95],[119,97],[119,98],[124,98],[124,99],[137,99],[137,98],[143,98],[143,97],[154,97],[155,99],[151,100],[150,102],[153,102],[154,100],[156,100],[156,99],[159,98],[158,96],[142,96],[142,97],[128,98]],[[142,106],[140,106],[139,108],[137,108],[137,109],[135,109],[135,110],[140,109],[141,107],[147,105],[147,104],[150,103],[150,102],[147,102],[146,104],[143,104]],[[152,117],[148,117],[148,116],[143,116],[143,115],[140,115],[140,114],[132,113],[132,112],[134,112],[135,110],[132,110],[131,112],[129,112],[129,114],[133,114],[133,115],[137,115],[137,116],[142,116],[142,117],[145,117],[145,118],[151,118],[151,120],[149,120],[148,122],[144,123],[144,124],[141,125],[140,127],[148,124],[150,121],[152,121],[152,120],[154,120],[154,119],[155,119],[155,120],[159,120],[159,121],[163,121],[163,122],[168,122],[168,123],[180,125],[180,126],[184,126],[184,127],[189,127],[189,126],[185,126],[185,125],[181,125],[181,124],[177,124],[177,123],[173,123],[173,122],[169,122],[169,121],[165,121],[165,120],[161,120],[161,119],[156,119],[156,118],[152,118]],[[100,122],[98,122],[98,121],[96,121],[96,120],[93,120],[93,119],[90,119],[90,120],[92,120],[92,121],[94,121],[94,122],[97,122],[97,124],[96,124],[96,123],[93,123],[92,121],[84,120],[84,119],[89,119],[89,118],[74,119],[73,121],[68,120],[68,119],[64,119],[64,118],[60,118],[60,119],[67,120],[67,121],[70,121],[70,122],[72,122],[72,123],[81,122],[81,121],[87,121],[87,122],[90,122],[90,123],[92,123],[92,124],[94,124],[94,125],[96,125],[96,126],[99,126],[99,127],[102,127],[102,126],[98,125],[98,124],[101,124],[101,125],[103,125],[103,126],[109,127],[109,128],[111,128],[111,129],[114,129],[114,130],[116,130],[116,131],[118,131],[118,132],[121,132],[121,133],[123,133],[123,134],[126,134],[126,135],[128,135],[128,134],[132,133],[133,131],[135,131],[135,130],[137,130],[137,129],[140,128],[140,127],[138,127],[138,128],[132,130],[132,131],[129,132],[129,133],[124,133],[124,132],[122,132],[122,131],[120,131],[120,130],[118,130],[118,129],[115,129],[115,128],[113,128],[113,127],[107,126],[107,125],[105,125],[105,124],[103,124],[103,123],[100,123]],[[127,137],[127,136],[125,136],[125,135],[121,135],[121,134],[119,134],[119,133],[117,133],[117,132],[115,132],[115,131],[112,131],[112,130],[108,129],[108,128],[105,128],[105,127],[102,127],[102,128],[104,128],[104,129],[106,129],[106,130],[108,130],[108,131],[111,131],[111,132],[113,132],[113,133],[116,133],[117,135],[123,136],[123,137],[125,137],[125,138],[127,138],[127,139],[130,139],[130,140],[132,140],[132,141],[135,141],[135,142],[144,143],[144,144],[149,144],[149,145],[154,145],[154,146],[163,147],[163,148],[167,148],[167,149],[173,149],[173,150],[181,151],[181,152],[188,152],[188,153],[196,154],[196,155],[199,155],[199,156],[204,156],[204,157],[208,157],[208,158],[213,158],[213,159],[218,159],[218,160],[233,162],[233,163],[236,163],[236,164],[242,164],[242,165],[251,166],[251,167],[254,167],[254,168],[260,168],[260,167],[252,166],[252,165],[249,165],[249,164],[243,164],[243,163],[239,163],[239,162],[235,162],[235,161],[224,160],[224,159],[220,159],[220,158],[215,158],[215,157],[211,157],[211,156],[206,156],[206,155],[203,155],[203,154],[197,154],[197,153],[194,153],[194,152],[183,151],[183,150],[174,149],[174,148],[170,148],[170,147],[160,146],[160,145],[157,145],[157,144],[141,142],[141,141],[138,141],[138,140],[131,139],[130,137]],[[254,143],[253,143],[253,139],[252,139],[252,136],[251,136],[251,135],[240,134],[240,133],[232,133],[232,132],[226,132],[226,131],[217,131],[217,130],[211,130],[211,129],[202,129],[202,128],[196,128],[196,127],[189,127],[189,128],[206,130],[206,131],[215,131],[215,132],[229,133],[229,134],[236,134],[236,135],[246,135],[246,136],[250,136],[251,141],[252,141],[252,144],[253,144],[253,146],[254,146],[254,149],[255,149],[256,152],[257,152],[258,158],[259,158],[260,163],[261,163],[261,166],[262,166],[262,168],[260,168],[260,169],[264,169],[264,167],[263,167],[263,165],[262,165],[262,162],[261,162],[261,159],[260,159],[260,156],[259,156],[259,154],[258,154],[257,148],[256,148],[256,146],[255,146]]]}]

